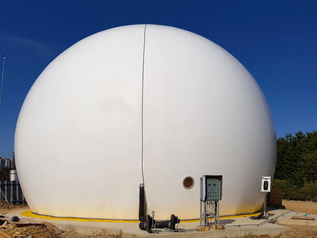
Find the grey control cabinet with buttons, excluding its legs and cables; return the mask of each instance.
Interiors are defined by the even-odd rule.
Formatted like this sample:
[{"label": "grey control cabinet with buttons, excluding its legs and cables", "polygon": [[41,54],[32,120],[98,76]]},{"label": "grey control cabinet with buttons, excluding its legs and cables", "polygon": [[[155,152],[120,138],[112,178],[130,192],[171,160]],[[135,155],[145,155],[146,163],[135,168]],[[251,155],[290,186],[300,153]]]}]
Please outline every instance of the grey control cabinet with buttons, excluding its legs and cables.
[{"label": "grey control cabinet with buttons, excluding its legs and cables", "polygon": [[222,175],[204,175],[200,178],[200,200],[220,201],[222,197]]}]

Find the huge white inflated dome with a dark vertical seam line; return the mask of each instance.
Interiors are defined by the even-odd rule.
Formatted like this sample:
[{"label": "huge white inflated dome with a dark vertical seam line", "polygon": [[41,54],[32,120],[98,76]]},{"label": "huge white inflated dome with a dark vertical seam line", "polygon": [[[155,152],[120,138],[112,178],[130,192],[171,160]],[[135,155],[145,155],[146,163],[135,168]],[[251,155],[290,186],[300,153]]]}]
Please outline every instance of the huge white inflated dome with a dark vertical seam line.
[{"label": "huge white inflated dome with a dark vertical seam line", "polygon": [[221,216],[261,209],[276,133],[259,85],[226,50],[182,29],[132,25],[46,67],[22,106],[15,152],[33,213],[137,220],[144,172],[156,219],[193,219],[203,175],[223,175]]}]

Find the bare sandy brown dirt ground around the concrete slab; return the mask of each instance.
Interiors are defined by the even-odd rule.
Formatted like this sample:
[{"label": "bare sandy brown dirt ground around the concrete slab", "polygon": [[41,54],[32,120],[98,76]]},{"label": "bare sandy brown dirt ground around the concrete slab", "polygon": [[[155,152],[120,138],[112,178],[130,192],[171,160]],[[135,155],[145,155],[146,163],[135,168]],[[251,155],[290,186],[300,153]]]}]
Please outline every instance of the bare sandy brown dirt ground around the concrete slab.
[{"label": "bare sandy brown dirt ground around the concrete slab", "polygon": [[[310,202],[310,201],[283,201],[283,206],[286,209],[291,209],[293,211],[302,212],[302,213],[310,213],[317,215],[317,203]],[[16,209],[21,208],[28,208],[28,206],[12,206],[9,205],[7,202],[0,201],[0,214],[6,214],[8,212],[12,212]],[[317,219],[317,217],[316,217]],[[278,220],[277,220],[278,224]],[[282,224],[280,224],[282,225]],[[284,225],[284,224],[283,224]],[[292,225],[284,225],[290,227],[290,230],[275,236],[274,238],[298,238],[298,237],[305,237],[305,238],[315,238],[317,237],[317,227],[315,226],[292,226]],[[63,230],[56,228],[51,223],[45,222],[44,226],[26,226],[26,227],[16,227],[12,224],[6,224],[4,226],[0,225],[0,237],[1,232],[8,234],[10,237],[15,237],[19,235],[19,237],[31,237],[34,238],[46,238],[46,237],[76,237],[76,238],[89,238],[89,237],[112,237],[112,238],[119,238],[122,237],[121,233],[118,234],[111,234],[107,230],[103,230],[101,233],[96,233],[93,235],[82,235],[76,232],[76,228],[73,226],[69,226]],[[20,233],[20,234],[19,234]],[[247,235],[243,237],[236,237],[236,238],[271,238],[269,235]]]}]

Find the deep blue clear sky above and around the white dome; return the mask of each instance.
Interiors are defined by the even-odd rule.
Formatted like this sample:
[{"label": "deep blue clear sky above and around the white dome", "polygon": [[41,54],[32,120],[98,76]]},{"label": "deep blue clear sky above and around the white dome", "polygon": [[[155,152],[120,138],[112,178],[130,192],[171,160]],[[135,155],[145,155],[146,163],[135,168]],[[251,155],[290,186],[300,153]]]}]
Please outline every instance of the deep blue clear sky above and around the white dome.
[{"label": "deep blue clear sky above and around the white dome", "polygon": [[0,156],[12,158],[23,100],[55,57],[93,33],[145,23],[192,31],[236,57],[262,88],[277,137],[317,130],[317,1],[1,0]]}]

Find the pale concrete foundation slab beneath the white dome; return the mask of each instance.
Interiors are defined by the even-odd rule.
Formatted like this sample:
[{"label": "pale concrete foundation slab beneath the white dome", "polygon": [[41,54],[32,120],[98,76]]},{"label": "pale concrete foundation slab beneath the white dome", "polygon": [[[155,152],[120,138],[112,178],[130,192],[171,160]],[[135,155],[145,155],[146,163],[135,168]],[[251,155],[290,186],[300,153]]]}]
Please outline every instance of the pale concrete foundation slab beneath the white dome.
[{"label": "pale concrete foundation slab beneath the white dome", "polygon": [[[6,216],[19,216],[22,212],[27,209],[15,210],[6,214]],[[269,213],[269,219],[277,218],[278,216],[289,212],[289,210],[271,210]],[[285,214],[284,217],[280,216],[277,221],[290,220],[290,217],[295,215],[295,213]],[[317,216],[316,216],[317,217]],[[272,224],[270,222],[259,225],[260,223],[266,221],[252,220],[249,217],[237,217],[237,218],[226,218],[220,219],[220,224],[223,224],[225,229],[221,230],[208,230],[208,231],[188,231],[188,232],[160,232],[160,233],[148,233],[144,230],[138,228],[138,222],[91,222],[91,221],[72,221],[72,220],[50,220],[43,218],[34,218],[38,221],[50,222],[54,224],[59,229],[71,229],[76,230],[78,233],[82,234],[112,234],[112,233],[122,233],[122,237],[126,238],[137,238],[137,237],[149,237],[149,236],[162,236],[162,237],[195,237],[195,238],[207,238],[207,237],[236,237],[244,236],[248,234],[261,235],[269,234],[270,236],[275,236],[289,230],[289,227]],[[299,220],[292,220],[299,221]],[[301,221],[299,221],[301,222]],[[314,221],[313,221],[314,222]],[[197,222],[181,222],[178,228],[181,229],[195,229],[199,225]]]}]

